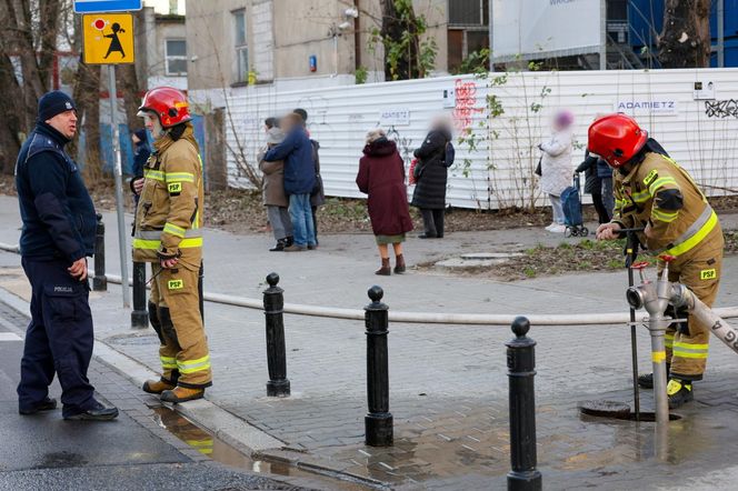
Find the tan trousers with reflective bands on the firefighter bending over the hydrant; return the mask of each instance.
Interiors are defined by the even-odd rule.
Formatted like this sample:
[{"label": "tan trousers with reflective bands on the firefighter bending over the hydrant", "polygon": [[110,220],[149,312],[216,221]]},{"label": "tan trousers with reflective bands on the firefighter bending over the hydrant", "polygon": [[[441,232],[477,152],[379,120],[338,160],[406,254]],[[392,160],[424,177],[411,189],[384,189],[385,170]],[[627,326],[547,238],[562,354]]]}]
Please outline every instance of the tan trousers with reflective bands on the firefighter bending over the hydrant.
[{"label": "tan trousers with reflective bands on the firefighter bending over the hydrant", "polygon": [[[720,283],[722,265],[722,231],[710,233],[704,244],[679,257],[669,265],[669,281],[680,281],[695,294],[712,307]],[[710,240],[711,239],[711,240]],[[671,360],[671,375],[684,380],[700,380],[707,367],[709,325],[700,325],[688,319],[689,333],[669,329],[674,335],[672,349],[667,347],[667,360]]]}]

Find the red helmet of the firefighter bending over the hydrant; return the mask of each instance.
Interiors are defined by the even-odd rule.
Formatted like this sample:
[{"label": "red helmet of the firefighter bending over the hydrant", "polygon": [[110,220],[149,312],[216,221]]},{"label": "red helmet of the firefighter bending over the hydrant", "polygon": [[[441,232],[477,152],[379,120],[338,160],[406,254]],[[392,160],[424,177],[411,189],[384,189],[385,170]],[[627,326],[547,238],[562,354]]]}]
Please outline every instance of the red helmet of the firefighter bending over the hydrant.
[{"label": "red helmet of the firefighter bending over the hydrant", "polygon": [[635,119],[622,113],[608,114],[589,126],[587,148],[617,169],[632,159],[647,140],[648,132]]}]

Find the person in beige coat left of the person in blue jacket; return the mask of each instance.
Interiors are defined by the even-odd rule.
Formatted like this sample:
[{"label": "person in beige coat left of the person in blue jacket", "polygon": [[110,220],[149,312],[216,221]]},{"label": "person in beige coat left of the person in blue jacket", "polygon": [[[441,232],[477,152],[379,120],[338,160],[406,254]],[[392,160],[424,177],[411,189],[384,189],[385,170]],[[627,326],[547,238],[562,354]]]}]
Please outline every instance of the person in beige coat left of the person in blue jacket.
[{"label": "person in beige coat left of the person in blue jacket", "polygon": [[292,246],[292,221],[288,211],[289,200],[285,194],[285,162],[275,160],[267,162],[263,156],[267,150],[277,147],[285,140],[285,133],[277,127],[267,131],[267,149],[259,154],[259,170],[263,172],[263,204],[277,246],[269,249],[272,252],[283,251]]}]

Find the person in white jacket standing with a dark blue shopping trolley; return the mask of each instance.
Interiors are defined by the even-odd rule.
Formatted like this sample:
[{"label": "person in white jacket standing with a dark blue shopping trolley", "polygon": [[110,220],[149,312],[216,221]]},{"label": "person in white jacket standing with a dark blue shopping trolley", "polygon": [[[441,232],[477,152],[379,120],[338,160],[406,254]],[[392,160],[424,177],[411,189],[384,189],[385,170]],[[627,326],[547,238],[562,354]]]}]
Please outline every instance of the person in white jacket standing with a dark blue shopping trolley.
[{"label": "person in white jacket standing with a dark blue shopping trolley", "polygon": [[571,166],[572,136],[571,124],[574,116],[569,111],[559,111],[552,120],[551,137],[542,141],[538,148],[543,152],[541,157],[541,190],[548,194],[554,211],[554,220],[546,230],[564,233],[564,208],[561,193],[571,186],[574,168]]}]

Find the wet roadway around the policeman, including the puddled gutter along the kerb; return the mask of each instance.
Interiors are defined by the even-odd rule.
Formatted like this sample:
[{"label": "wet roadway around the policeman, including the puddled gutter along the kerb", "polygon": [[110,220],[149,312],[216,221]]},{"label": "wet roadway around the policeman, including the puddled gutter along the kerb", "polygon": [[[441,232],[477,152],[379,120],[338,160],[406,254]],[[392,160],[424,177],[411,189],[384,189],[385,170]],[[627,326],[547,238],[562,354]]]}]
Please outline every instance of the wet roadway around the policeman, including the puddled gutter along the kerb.
[{"label": "wet roadway around the policeman, including the puddled gutter along the kerb", "polygon": [[[252,461],[94,360],[90,380],[98,399],[121,410],[116,421],[64,421],[60,409],[20,415],[18,328],[26,322],[0,302],[2,491],[366,489]],[[51,395],[59,394],[54,382]]]}]

